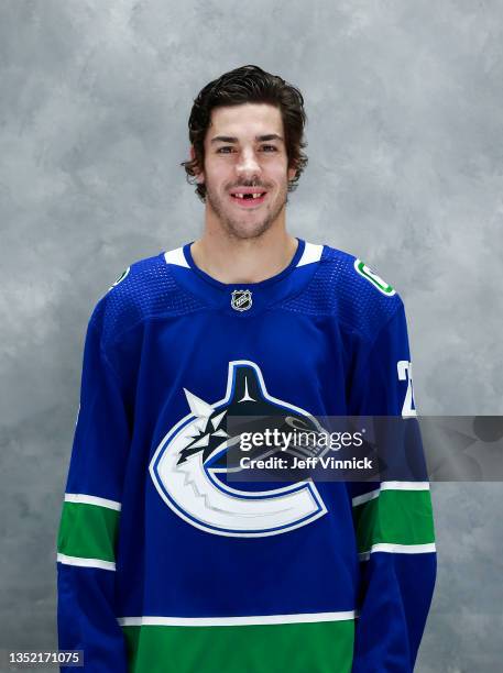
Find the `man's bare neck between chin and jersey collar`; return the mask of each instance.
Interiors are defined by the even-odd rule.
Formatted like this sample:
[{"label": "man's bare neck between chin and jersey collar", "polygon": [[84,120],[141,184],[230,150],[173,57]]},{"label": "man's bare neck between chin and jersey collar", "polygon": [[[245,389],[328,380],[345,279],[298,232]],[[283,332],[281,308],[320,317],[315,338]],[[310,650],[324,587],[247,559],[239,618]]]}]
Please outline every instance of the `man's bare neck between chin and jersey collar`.
[{"label": "man's bare neck between chin and jersey collar", "polygon": [[205,231],[190,253],[196,266],[220,283],[260,283],[286,268],[297,245],[283,228],[273,227],[256,239]]}]

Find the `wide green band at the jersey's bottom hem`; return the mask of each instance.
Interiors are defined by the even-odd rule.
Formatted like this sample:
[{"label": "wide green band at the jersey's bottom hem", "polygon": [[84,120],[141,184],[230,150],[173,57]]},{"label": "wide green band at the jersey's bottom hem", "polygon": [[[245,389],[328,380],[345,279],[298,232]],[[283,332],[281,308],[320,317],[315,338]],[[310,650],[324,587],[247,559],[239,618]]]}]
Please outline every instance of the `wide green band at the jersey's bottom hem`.
[{"label": "wide green band at the jersey's bottom hem", "polygon": [[123,627],[131,673],[351,673],[354,621]]}]

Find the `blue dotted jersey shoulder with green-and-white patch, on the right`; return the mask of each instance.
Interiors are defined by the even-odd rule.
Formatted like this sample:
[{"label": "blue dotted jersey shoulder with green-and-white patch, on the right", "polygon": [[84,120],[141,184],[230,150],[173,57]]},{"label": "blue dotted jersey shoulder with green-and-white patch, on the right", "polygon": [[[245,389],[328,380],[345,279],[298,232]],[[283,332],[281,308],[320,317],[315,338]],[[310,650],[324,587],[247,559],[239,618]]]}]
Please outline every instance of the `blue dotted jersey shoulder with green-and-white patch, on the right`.
[{"label": "blue dotted jersey shoulder with green-and-white patch, on the right", "polygon": [[285,305],[310,315],[332,315],[347,330],[372,340],[403,306],[395,288],[361,258],[324,245],[316,273]]}]

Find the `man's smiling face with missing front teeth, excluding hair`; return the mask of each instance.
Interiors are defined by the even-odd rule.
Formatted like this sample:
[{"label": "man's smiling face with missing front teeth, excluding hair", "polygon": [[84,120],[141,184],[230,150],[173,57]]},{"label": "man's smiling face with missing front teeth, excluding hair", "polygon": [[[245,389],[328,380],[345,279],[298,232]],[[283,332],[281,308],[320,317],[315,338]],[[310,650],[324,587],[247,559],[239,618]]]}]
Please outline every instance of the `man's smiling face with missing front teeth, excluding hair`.
[{"label": "man's smiling face with missing front teeth, excluding hair", "polygon": [[206,185],[209,216],[230,235],[254,239],[284,217],[294,176],[277,108],[245,103],[212,110],[199,179]]}]

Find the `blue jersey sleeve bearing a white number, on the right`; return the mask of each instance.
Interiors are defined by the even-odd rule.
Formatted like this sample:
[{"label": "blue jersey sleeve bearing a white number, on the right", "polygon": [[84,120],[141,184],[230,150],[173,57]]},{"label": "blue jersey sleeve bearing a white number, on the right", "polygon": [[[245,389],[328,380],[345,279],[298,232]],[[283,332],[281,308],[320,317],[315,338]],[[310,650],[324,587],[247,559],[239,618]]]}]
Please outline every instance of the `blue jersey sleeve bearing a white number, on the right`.
[{"label": "blue jersey sleeve bearing a white number, on the right", "polygon": [[[429,483],[412,388],[412,365],[402,301],[367,351],[351,386],[356,416],[401,417],[391,432],[386,462],[396,470],[415,453],[415,476],[351,484],[361,570],[353,673],[414,670],[436,577]],[[392,422],[389,423],[393,426]]]}]

